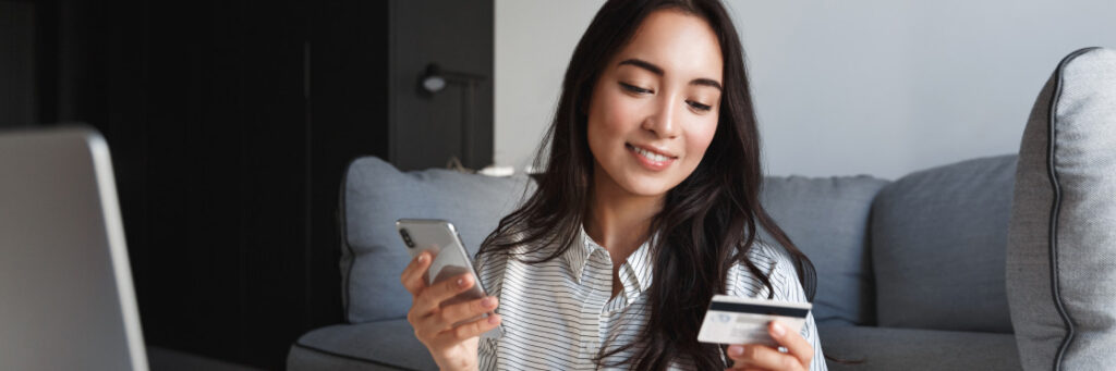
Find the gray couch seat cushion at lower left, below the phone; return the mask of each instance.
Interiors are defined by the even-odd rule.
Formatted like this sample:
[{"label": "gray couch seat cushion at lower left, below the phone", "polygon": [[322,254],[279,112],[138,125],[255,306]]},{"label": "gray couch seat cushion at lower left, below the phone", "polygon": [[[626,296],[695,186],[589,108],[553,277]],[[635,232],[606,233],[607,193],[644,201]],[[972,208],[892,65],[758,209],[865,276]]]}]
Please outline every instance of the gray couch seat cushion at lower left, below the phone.
[{"label": "gray couch seat cushion at lower left, below the phone", "polygon": [[287,370],[437,370],[406,320],[338,324],[291,345]]}]

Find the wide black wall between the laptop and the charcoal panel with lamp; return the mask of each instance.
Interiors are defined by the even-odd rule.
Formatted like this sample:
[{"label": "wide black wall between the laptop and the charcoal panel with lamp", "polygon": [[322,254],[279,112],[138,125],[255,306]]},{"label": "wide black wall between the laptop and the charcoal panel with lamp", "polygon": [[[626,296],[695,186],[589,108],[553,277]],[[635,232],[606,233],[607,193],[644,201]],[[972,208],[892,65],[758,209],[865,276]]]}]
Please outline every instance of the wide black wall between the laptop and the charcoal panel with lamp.
[{"label": "wide black wall between the laptop and the charcoal panel with lamp", "polygon": [[109,143],[146,341],[279,369],[340,322],[339,179],[387,157],[387,4],[37,4],[40,116]]}]

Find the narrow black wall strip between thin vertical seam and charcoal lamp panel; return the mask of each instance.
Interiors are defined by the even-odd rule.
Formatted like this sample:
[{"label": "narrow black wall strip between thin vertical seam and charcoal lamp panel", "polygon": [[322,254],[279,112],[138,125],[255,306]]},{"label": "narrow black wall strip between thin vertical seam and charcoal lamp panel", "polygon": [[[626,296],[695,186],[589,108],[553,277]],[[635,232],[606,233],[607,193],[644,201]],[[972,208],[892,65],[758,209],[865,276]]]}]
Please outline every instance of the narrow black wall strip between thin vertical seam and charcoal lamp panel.
[{"label": "narrow black wall strip between thin vertical seam and charcoal lamp panel", "polygon": [[343,321],[337,205],[345,167],[358,155],[392,160],[386,18],[386,2],[367,0],[316,2],[311,18],[307,82],[315,173],[307,180],[315,192],[307,205],[314,234],[307,240],[308,246],[329,250],[306,255],[311,328]]}]

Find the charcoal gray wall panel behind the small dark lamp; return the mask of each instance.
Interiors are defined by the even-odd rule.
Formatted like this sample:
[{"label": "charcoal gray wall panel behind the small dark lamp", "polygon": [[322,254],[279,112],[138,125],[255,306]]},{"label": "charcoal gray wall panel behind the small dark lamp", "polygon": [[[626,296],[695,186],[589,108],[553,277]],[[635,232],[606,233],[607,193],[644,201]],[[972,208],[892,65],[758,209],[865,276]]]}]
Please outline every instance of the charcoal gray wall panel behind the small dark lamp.
[{"label": "charcoal gray wall panel behind the small dark lamp", "polygon": [[[403,169],[492,164],[493,3],[392,1],[392,157]],[[436,94],[419,89],[426,66],[466,75]],[[468,81],[468,82],[466,82]]]}]

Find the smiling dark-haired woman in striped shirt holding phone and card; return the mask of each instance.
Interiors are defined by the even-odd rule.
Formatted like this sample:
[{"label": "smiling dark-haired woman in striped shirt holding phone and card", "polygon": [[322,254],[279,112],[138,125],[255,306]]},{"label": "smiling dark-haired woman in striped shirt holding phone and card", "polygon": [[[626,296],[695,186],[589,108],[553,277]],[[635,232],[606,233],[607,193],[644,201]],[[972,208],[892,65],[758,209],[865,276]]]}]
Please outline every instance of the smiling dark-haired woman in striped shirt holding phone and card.
[{"label": "smiling dark-haired woman in striped shirt holding phone and card", "polygon": [[443,307],[468,275],[426,286],[427,254],[403,272],[407,319],[442,369],[825,369],[812,316],[800,333],[770,324],[786,352],[698,342],[714,294],[808,301],[815,286],[759,204],[743,56],[719,1],[605,3],[547,138],[538,189],[478,253],[492,296]]}]

